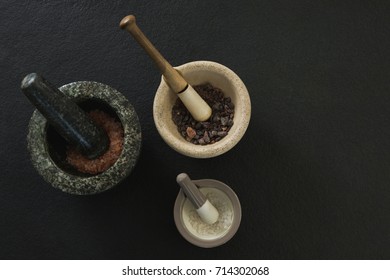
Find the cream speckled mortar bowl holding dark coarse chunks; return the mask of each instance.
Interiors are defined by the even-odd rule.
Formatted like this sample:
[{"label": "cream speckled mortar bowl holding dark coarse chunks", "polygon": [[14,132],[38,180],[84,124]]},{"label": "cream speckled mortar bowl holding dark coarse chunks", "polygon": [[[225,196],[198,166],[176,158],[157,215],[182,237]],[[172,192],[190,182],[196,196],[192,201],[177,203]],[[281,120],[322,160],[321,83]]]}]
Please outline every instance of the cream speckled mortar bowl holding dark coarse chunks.
[{"label": "cream speckled mortar bowl holding dark coarse chunks", "polygon": [[226,66],[212,61],[194,61],[175,67],[191,85],[210,83],[230,97],[234,108],[234,124],[228,135],[214,144],[195,145],[187,142],[172,120],[172,107],[178,98],[164,79],[157,89],[153,118],[164,141],[175,151],[194,158],[211,158],[232,149],[244,136],[251,116],[251,103],[242,80]]}]

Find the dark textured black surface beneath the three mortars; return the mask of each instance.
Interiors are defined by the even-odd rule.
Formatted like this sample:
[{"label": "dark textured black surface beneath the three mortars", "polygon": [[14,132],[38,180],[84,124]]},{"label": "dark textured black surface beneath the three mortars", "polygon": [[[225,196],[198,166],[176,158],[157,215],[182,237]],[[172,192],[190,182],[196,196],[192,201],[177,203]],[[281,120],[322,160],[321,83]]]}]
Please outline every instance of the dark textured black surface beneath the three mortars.
[{"label": "dark textured black surface beneath the three mortars", "polygon": [[[390,5],[339,2],[1,1],[0,257],[389,259]],[[197,160],[159,137],[160,75],[118,27],[131,13],[173,65],[212,60],[245,82],[252,119],[233,150]],[[89,197],[43,181],[26,149],[29,72],[124,93],[143,133],[130,177]],[[226,245],[179,235],[183,171],[237,192],[242,224]]]}]

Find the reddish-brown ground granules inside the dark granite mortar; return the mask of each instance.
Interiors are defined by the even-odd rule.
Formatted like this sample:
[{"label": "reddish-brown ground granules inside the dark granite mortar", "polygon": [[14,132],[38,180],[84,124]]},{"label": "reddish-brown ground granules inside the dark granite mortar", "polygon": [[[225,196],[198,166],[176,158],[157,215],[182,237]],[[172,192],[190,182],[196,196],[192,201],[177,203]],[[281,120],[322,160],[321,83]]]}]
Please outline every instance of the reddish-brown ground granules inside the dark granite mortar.
[{"label": "reddish-brown ground granules inside the dark granite mortar", "polygon": [[110,146],[107,151],[96,159],[88,159],[75,147],[69,146],[66,152],[67,161],[78,171],[95,175],[106,171],[119,158],[123,147],[123,127],[110,115],[103,111],[94,110],[88,113],[89,117],[107,133]]}]

